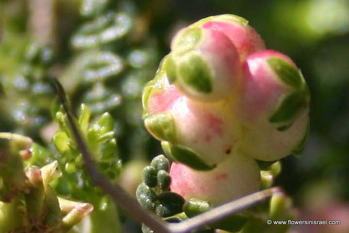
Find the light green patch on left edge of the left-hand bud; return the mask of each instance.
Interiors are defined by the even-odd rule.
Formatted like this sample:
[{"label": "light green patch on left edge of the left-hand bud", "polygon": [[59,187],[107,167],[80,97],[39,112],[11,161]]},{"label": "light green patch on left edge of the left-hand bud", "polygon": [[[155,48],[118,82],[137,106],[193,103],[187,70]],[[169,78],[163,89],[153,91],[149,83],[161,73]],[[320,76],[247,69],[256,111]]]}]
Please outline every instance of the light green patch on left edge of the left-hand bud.
[{"label": "light green patch on left edge of the left-hand bud", "polygon": [[174,118],[170,112],[148,116],[144,125],[156,139],[176,142]]}]

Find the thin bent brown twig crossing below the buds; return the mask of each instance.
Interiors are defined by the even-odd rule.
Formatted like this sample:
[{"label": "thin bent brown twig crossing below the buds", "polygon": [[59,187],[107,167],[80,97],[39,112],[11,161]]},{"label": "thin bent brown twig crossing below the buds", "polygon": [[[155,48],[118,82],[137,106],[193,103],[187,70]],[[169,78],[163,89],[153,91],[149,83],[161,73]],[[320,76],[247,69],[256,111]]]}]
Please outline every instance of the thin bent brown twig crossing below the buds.
[{"label": "thin bent brown twig crossing below the buds", "polygon": [[137,201],[130,197],[120,185],[112,184],[98,170],[94,161],[91,159],[93,158],[93,156],[84,143],[84,140],[79,133],[79,129],[76,126],[73,116],[66,104],[62,85],[57,80],[54,80],[54,85],[57,89],[58,97],[63,104],[63,109],[68,117],[72,133],[82,154],[87,172],[92,182],[103,189],[108,195],[110,195],[113,201],[116,204],[120,205],[124,210],[126,210],[135,220],[137,220],[139,223],[144,223],[157,233],[189,233],[190,231],[204,227],[210,223],[214,223],[224,217],[230,216],[261,201],[264,201],[269,198],[274,192],[281,190],[279,187],[273,187],[263,191],[255,192],[248,196],[239,198],[237,200],[232,200],[226,204],[215,207],[203,214],[192,217],[181,223],[167,223],[165,221],[162,221],[159,217],[144,210],[137,203]]}]

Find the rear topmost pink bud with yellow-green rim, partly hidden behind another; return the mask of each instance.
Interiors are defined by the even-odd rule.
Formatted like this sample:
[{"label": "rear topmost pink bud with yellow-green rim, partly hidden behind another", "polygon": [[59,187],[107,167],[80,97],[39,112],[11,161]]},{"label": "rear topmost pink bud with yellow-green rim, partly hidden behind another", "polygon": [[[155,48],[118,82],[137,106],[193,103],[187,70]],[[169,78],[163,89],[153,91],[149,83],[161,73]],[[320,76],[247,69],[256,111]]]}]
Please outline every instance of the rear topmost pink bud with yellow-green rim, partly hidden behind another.
[{"label": "rear topmost pink bud with yellow-green rim, partly hidden behind another", "polygon": [[235,15],[219,15],[206,17],[190,25],[216,30],[226,35],[238,50],[240,61],[259,50],[265,50],[265,44],[260,35],[248,25],[243,17]]}]

